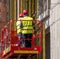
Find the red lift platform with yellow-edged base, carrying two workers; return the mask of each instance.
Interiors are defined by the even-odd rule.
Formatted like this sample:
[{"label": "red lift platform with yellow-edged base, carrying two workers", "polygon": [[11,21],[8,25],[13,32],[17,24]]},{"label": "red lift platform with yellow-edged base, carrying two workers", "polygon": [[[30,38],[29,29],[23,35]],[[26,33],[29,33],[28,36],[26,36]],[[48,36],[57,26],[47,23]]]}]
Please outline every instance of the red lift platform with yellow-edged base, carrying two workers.
[{"label": "red lift platform with yellow-edged base, carrying two workers", "polygon": [[[30,40],[31,41],[31,47],[23,47],[20,46],[20,40],[17,36],[16,30],[12,27],[14,27],[16,23],[16,20],[10,21],[7,25],[5,25],[2,28],[1,31],[1,42],[2,42],[2,57],[4,59],[8,58],[17,58],[18,56],[33,56],[38,55],[42,51],[42,21],[34,21],[35,23],[35,29],[36,26],[38,27],[36,29],[36,32],[33,33],[32,38],[24,38],[22,40]],[[13,25],[13,26],[12,26]],[[37,43],[37,42],[38,43]],[[37,45],[38,44],[38,45]]]}]

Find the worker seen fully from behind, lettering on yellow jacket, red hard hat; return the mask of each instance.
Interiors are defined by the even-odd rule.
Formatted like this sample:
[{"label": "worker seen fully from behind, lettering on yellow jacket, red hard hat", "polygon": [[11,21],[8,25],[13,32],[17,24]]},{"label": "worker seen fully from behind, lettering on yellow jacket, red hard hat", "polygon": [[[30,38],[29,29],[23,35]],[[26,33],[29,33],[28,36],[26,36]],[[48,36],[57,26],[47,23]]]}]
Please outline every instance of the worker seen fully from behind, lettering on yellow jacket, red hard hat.
[{"label": "worker seen fully from behind, lettering on yellow jacket, red hard hat", "polygon": [[[24,17],[22,18],[22,38],[32,38],[33,34],[33,26],[32,21],[33,18],[28,16],[27,10],[23,10]],[[31,47],[31,40],[25,40],[25,47]]]}]

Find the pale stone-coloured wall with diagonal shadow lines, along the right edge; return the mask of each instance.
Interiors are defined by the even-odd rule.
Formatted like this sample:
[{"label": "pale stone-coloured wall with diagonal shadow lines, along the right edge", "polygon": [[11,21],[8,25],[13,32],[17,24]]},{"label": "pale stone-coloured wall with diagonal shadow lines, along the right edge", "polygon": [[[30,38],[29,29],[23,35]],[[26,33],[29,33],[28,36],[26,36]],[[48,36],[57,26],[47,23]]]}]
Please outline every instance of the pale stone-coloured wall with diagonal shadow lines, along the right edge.
[{"label": "pale stone-coloured wall with diagonal shadow lines, along the right edge", "polygon": [[51,59],[60,59],[60,0],[51,0],[50,36]]}]

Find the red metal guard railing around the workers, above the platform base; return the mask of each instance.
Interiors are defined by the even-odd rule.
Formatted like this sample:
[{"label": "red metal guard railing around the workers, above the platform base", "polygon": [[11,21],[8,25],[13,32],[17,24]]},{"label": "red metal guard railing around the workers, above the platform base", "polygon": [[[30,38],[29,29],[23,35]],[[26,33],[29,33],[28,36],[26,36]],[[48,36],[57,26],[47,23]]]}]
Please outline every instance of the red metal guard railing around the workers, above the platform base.
[{"label": "red metal guard railing around the workers, above the platform base", "polygon": [[[26,20],[23,20],[23,21],[26,21]],[[16,22],[17,22],[16,20],[11,20],[7,25],[3,27],[3,30],[2,30],[2,44],[4,48],[3,50],[7,49],[9,46],[19,46],[20,44],[19,40],[21,40],[22,38],[20,39],[18,38]],[[42,34],[42,21],[33,20],[33,23],[34,23],[33,25],[34,32],[33,32],[32,38],[31,39],[23,38],[22,40],[31,40],[30,48],[42,47],[42,35],[43,35]]]}]

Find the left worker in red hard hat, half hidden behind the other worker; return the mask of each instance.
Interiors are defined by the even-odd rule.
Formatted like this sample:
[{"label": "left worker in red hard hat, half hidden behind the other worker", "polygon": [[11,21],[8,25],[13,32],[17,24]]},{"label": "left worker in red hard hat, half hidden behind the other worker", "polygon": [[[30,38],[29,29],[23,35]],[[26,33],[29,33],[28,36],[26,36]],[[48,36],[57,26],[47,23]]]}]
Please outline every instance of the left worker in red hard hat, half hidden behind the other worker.
[{"label": "left worker in red hard hat, half hidden behind the other worker", "polygon": [[21,13],[16,23],[19,46],[21,48],[25,47],[24,40],[22,40],[22,22],[21,21],[22,21],[23,16],[24,16],[23,13]]}]

